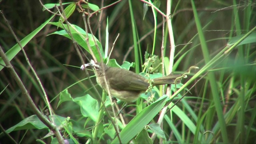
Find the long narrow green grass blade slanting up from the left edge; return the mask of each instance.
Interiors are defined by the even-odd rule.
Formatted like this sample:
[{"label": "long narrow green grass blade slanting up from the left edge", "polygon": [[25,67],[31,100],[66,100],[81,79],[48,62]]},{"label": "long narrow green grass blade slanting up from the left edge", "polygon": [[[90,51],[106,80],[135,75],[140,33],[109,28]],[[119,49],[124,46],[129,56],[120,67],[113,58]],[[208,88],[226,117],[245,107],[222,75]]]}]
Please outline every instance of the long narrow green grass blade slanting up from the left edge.
[{"label": "long narrow green grass blade slanting up from the left edge", "polygon": [[[40,32],[40,30],[42,30],[44,28],[44,26],[46,26],[46,24],[48,24],[48,22],[54,17],[55,15],[53,15],[52,17],[50,17],[48,20],[46,20],[46,22],[44,22],[41,26],[39,26],[38,28],[36,28],[33,32],[31,32],[30,34],[28,34],[28,36],[26,36],[25,38],[23,38],[22,40],[20,40],[20,44],[22,46],[22,48],[24,48],[24,46],[26,46],[26,44],[28,44],[28,42],[34,38],[34,36],[36,34],[38,34],[38,32]],[[18,52],[20,52],[21,48],[18,44],[15,44],[12,48],[10,48],[10,50],[8,50],[5,54],[8,58],[9,61],[11,61],[14,56],[16,56],[16,54],[18,54]],[[2,60],[2,58],[0,57],[0,71],[4,68],[5,63]]]}]

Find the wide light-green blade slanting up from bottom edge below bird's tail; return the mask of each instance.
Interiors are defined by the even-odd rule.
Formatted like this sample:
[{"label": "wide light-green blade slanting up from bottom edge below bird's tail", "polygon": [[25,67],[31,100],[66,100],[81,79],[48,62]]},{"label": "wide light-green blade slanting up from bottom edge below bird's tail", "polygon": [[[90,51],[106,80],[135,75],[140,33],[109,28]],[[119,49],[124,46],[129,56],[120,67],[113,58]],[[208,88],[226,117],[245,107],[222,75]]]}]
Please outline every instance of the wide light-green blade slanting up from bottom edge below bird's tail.
[{"label": "wide light-green blade slanting up from bottom edge below bird's tail", "polygon": [[[130,142],[160,112],[166,102],[166,98],[166,95],[162,96],[156,102],[144,108],[126,125],[119,134],[122,143],[127,144]],[[111,143],[119,143],[118,138],[116,137]]]}]

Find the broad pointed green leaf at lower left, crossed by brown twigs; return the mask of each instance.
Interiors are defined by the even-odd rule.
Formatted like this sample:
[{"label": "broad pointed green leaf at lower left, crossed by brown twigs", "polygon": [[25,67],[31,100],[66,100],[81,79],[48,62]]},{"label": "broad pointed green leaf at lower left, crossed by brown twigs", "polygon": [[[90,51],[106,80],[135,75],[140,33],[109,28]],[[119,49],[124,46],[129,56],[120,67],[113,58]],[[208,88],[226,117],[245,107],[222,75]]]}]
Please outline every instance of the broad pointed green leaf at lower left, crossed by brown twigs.
[{"label": "broad pointed green leaf at lower left, crossed by brown twigs", "polygon": [[[56,126],[60,126],[62,122],[64,122],[67,118],[64,118],[62,116],[53,115],[54,122]],[[48,128],[36,115],[29,116],[28,118],[25,118],[15,126],[12,126],[8,130],[6,130],[7,133],[10,133],[15,130],[28,130],[31,128],[36,129],[43,129]]]}]

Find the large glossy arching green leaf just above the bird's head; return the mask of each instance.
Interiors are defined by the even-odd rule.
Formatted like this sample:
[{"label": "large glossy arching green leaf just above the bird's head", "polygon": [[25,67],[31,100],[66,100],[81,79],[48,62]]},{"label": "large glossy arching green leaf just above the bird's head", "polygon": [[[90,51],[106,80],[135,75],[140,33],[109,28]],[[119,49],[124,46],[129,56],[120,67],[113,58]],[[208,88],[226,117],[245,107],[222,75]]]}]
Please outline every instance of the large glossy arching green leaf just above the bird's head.
[{"label": "large glossy arching green leaf just above the bird's head", "polygon": [[[52,24],[54,26],[58,26],[58,22],[49,22],[49,24]],[[66,24],[64,24],[63,26],[60,25],[60,28],[68,30],[68,27],[67,27]],[[80,46],[82,46],[87,52],[90,53],[90,50],[89,50],[89,48],[86,44],[86,38],[87,38],[86,32],[82,28],[80,28],[79,26],[76,26],[74,24],[71,24],[71,26],[69,26],[69,28],[70,28],[70,31],[71,31],[71,34],[72,34],[74,40]],[[69,38],[71,40],[71,38],[70,38],[69,34],[66,32],[66,30],[60,30],[60,31],[54,32],[52,34],[59,34],[61,36]],[[49,35],[51,35],[51,34],[49,34]],[[103,48],[102,48],[102,45],[100,44],[99,40],[95,36],[93,36],[92,34],[88,33],[88,41],[89,41],[90,47],[92,48],[92,52],[94,53],[97,61],[101,61],[100,54],[98,53],[98,50],[96,48],[96,44],[94,42],[94,39],[96,41],[96,44],[98,45],[98,48],[100,50],[100,54],[103,56],[103,54],[104,54],[103,53]]]}]

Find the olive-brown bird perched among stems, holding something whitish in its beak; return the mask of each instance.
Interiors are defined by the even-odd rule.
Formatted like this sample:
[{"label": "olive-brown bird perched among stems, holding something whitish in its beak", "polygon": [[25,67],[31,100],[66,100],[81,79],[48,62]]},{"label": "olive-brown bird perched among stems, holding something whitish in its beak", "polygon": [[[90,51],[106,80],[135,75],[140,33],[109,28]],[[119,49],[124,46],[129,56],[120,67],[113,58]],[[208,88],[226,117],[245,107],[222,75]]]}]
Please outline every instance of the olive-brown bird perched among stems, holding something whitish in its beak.
[{"label": "olive-brown bird perched among stems, holding something whitish in its beak", "polygon": [[[94,69],[97,83],[107,92],[102,70],[102,66],[104,66],[110,94],[127,103],[136,101],[140,94],[145,92],[148,86],[150,86],[148,79],[129,70],[109,67],[98,62],[94,63],[93,60],[85,64],[85,67],[87,66],[91,66]],[[84,70],[85,67],[82,65],[81,69]],[[174,84],[175,79],[178,77],[180,77],[180,74],[169,74],[168,76],[154,78],[153,85]],[[180,83],[180,79],[177,80],[177,83]]]}]

